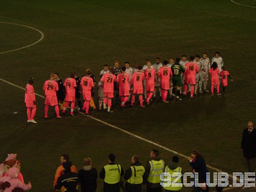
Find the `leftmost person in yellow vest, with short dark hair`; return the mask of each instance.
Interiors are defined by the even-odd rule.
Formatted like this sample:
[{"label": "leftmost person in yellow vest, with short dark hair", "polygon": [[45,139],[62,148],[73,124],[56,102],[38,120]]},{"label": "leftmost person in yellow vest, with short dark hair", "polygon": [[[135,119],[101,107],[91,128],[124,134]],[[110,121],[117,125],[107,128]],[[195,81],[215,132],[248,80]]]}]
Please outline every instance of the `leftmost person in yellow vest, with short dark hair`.
[{"label": "leftmost person in yellow vest, with short dark hair", "polygon": [[124,175],[124,170],[121,165],[114,162],[115,159],[115,154],[109,154],[109,164],[100,171],[100,178],[104,179],[104,192],[119,192],[120,176]]}]

